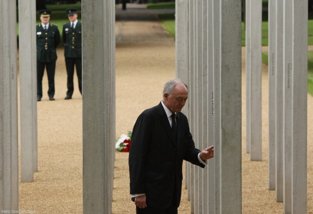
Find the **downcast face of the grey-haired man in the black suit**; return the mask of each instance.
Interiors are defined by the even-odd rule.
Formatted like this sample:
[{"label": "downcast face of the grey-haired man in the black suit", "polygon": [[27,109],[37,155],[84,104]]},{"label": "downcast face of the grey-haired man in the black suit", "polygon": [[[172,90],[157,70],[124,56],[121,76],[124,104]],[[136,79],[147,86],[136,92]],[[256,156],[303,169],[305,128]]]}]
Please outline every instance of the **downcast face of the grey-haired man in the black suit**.
[{"label": "downcast face of the grey-haired man in the black suit", "polygon": [[181,112],[188,98],[188,90],[182,83],[178,83],[171,95],[164,93],[163,103],[172,112]]}]

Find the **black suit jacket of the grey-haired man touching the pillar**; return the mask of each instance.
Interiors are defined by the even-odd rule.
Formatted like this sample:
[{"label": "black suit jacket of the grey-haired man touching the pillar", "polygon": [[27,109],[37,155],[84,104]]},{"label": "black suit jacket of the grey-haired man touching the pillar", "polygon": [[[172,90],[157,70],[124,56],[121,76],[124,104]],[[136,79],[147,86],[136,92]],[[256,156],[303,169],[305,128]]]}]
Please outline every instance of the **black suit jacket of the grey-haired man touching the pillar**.
[{"label": "black suit jacket of the grey-haired man touching the pillar", "polygon": [[177,142],[160,102],[142,112],[133,128],[129,153],[130,193],[145,193],[148,207],[164,209],[172,200],[179,206],[183,160],[204,167],[198,160],[200,150],[195,148],[187,117],[177,112],[176,121]]}]

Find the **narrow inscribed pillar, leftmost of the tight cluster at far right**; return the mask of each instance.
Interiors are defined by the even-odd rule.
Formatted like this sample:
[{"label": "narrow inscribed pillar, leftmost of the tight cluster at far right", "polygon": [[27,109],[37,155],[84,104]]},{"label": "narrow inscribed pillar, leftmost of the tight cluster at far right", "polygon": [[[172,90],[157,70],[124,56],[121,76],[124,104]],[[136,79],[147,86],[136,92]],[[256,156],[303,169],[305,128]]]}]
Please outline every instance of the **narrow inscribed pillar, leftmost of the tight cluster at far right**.
[{"label": "narrow inscribed pillar, leftmost of the tight cluster at far right", "polygon": [[275,66],[276,66],[276,0],[269,0],[269,190],[275,190]]}]

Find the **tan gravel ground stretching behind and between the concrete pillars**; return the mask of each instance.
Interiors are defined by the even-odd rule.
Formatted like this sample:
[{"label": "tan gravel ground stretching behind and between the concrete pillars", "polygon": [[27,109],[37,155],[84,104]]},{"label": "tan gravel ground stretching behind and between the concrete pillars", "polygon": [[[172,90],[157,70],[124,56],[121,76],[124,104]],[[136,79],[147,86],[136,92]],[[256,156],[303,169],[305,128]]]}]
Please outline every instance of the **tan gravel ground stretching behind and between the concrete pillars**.
[{"label": "tan gravel ground stretching behind and between the concrete pillars", "polygon": [[[126,21],[127,18],[127,21]],[[137,116],[162,99],[164,83],[175,77],[175,42],[155,16],[118,15],[116,21],[116,136],[132,130]],[[267,67],[262,75],[263,161],[249,161],[245,154],[245,68],[242,66],[242,211],[243,213],[282,213],[275,192],[268,191],[268,98]],[[56,101],[46,94],[38,102],[38,172],[34,182],[19,184],[20,210],[36,213],[82,213],[82,103],[77,77],[73,99],[64,100],[66,70],[63,48],[58,49]],[[76,75],[76,74],[75,74]],[[308,109],[313,99],[308,95]],[[308,112],[308,213],[313,212],[313,125]],[[115,143],[115,142],[112,142]],[[116,152],[113,213],[135,213],[129,195],[128,153]],[[182,192],[178,213],[189,214],[187,190]]]}]

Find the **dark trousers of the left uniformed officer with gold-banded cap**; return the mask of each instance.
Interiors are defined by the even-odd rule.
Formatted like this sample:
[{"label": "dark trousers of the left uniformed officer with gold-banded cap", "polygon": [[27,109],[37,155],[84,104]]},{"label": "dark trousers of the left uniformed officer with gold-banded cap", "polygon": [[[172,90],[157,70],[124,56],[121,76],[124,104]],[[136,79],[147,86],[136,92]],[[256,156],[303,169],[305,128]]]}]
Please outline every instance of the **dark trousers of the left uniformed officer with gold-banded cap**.
[{"label": "dark trousers of the left uniformed officer with gold-banded cap", "polygon": [[38,62],[37,61],[37,97],[42,97],[42,78],[44,76],[44,67],[46,67],[48,75],[49,97],[54,96],[54,73],[55,73],[55,61],[53,62]]}]

